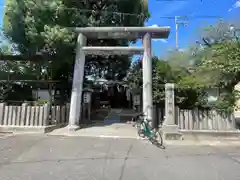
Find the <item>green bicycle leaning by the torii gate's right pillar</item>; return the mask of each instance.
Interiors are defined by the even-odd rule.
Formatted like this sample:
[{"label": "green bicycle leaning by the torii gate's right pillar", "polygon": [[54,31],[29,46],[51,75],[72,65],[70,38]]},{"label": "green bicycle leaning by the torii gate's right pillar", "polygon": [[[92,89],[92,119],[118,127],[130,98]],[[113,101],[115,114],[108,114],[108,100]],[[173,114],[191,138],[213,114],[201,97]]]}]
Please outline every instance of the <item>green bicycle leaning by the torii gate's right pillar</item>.
[{"label": "green bicycle leaning by the torii gate's right pillar", "polygon": [[138,131],[138,135],[141,138],[147,137],[152,144],[162,147],[163,138],[161,133],[159,132],[159,128],[152,127],[150,123],[151,121],[147,120],[143,113],[137,115],[136,127]]}]

